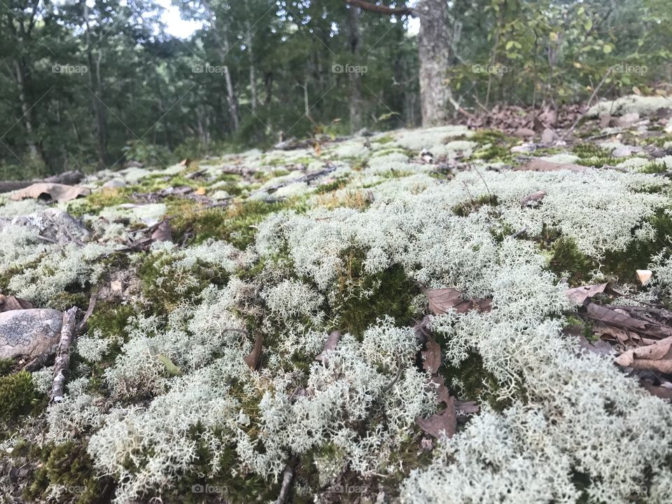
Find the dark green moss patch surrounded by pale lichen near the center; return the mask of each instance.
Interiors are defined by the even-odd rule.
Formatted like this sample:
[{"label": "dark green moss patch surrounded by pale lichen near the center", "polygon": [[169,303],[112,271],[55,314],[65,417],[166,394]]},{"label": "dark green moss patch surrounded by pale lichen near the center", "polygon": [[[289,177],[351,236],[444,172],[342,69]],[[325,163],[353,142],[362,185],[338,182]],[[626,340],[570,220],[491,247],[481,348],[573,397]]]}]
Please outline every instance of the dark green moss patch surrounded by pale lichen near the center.
[{"label": "dark green moss patch surrounded by pale lichen near the center", "polygon": [[[344,269],[339,274],[331,305],[334,329],[361,335],[378,318],[389,315],[398,325],[408,325],[417,314],[412,299],[419,287],[394,265],[377,274],[365,274],[364,254],[350,249],[342,255]],[[370,295],[365,293],[370,292]]]}]

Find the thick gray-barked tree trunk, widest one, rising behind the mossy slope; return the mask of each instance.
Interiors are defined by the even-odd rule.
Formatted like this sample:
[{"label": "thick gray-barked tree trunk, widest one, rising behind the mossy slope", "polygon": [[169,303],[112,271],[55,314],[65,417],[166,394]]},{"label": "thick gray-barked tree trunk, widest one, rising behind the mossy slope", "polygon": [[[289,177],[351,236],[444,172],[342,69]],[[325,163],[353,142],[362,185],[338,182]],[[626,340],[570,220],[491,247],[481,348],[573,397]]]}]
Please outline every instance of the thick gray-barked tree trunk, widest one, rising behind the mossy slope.
[{"label": "thick gray-barked tree trunk, widest one, rising behind the mossy slope", "polygon": [[421,0],[414,13],[420,18],[418,57],[422,125],[446,123],[449,89],[445,83],[450,62],[450,34],[446,0]]}]

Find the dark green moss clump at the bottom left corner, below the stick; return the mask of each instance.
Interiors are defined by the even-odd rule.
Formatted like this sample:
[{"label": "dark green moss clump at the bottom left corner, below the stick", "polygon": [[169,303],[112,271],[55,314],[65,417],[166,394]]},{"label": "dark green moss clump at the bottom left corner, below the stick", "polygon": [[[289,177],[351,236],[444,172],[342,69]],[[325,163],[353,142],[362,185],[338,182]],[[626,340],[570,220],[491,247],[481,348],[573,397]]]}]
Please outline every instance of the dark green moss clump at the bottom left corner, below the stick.
[{"label": "dark green moss clump at the bottom left corner, below the stick", "polygon": [[[111,500],[111,482],[97,477],[93,461],[81,442],[50,444],[41,450],[43,464],[34,474],[23,497],[39,500],[46,496],[50,485],[63,486],[67,500],[75,504],[108,503]],[[65,497],[63,496],[63,497]],[[60,502],[59,501],[59,502]]]}]

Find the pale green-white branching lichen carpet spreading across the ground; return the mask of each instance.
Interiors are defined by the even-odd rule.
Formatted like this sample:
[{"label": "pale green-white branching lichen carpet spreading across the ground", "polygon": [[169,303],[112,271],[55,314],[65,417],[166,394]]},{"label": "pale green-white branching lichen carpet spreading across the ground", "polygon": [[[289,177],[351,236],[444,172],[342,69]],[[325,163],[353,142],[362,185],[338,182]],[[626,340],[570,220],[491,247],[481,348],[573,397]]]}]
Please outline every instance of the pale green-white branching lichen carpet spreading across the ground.
[{"label": "pale green-white branching lichen carpet spreading across the ground", "polygon": [[[297,153],[236,157],[267,175],[262,191],[231,214],[195,218],[211,235],[253,229],[252,243],[209,237],[133,253],[142,287],[125,302],[134,309],[120,329],[97,321],[79,340],[83,363],[64,401],[48,407],[48,440],[85,442],[118,503],[172,501],[195,482],[221,484],[236,501],[274,498],[290,456],[302,460],[297,492],[317,501],[347,473],[406,503],[667,502],[672,407],[563,335],[575,307],[559,272],[571,267],[555,264],[554,246],[571,244],[585,281],[603,279],[615,255],[661,239],[669,183],[638,162],[549,173],[477,162],[451,180],[419,162],[423,148],[448,158],[477,150],[456,137],[468,131],[327,147],[325,157],[346,159],[319,183],[272,176]],[[226,227],[282,183],[277,211]],[[521,206],[540,190],[540,204]],[[96,258],[113,250],[104,230],[94,232],[100,243],[67,245],[66,255],[25,230],[0,232],[4,271],[23,268],[10,288],[34,300],[94,283]],[[669,251],[646,260],[657,272],[650,292],[668,294]],[[31,290],[38,275],[47,288]],[[426,312],[421,288],[443,287],[492,299],[489,312],[448,311],[428,325],[442,364],[456,370],[451,393],[482,411],[423,453],[416,419],[440,403],[417,365],[414,325]],[[460,375],[475,358],[483,376]],[[469,380],[482,381],[479,395]],[[236,493],[240,480],[248,486]]]}]

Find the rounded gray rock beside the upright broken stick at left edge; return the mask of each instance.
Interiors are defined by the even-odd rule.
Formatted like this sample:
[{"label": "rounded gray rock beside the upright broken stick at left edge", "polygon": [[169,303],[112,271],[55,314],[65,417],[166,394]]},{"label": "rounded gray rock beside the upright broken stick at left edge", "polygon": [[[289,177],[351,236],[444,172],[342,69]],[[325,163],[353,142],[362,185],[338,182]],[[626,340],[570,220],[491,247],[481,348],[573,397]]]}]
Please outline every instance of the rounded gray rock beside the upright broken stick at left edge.
[{"label": "rounded gray rock beside the upright broken stick at left edge", "polygon": [[12,310],[0,313],[0,358],[44,353],[60,339],[63,314],[55,309]]}]

